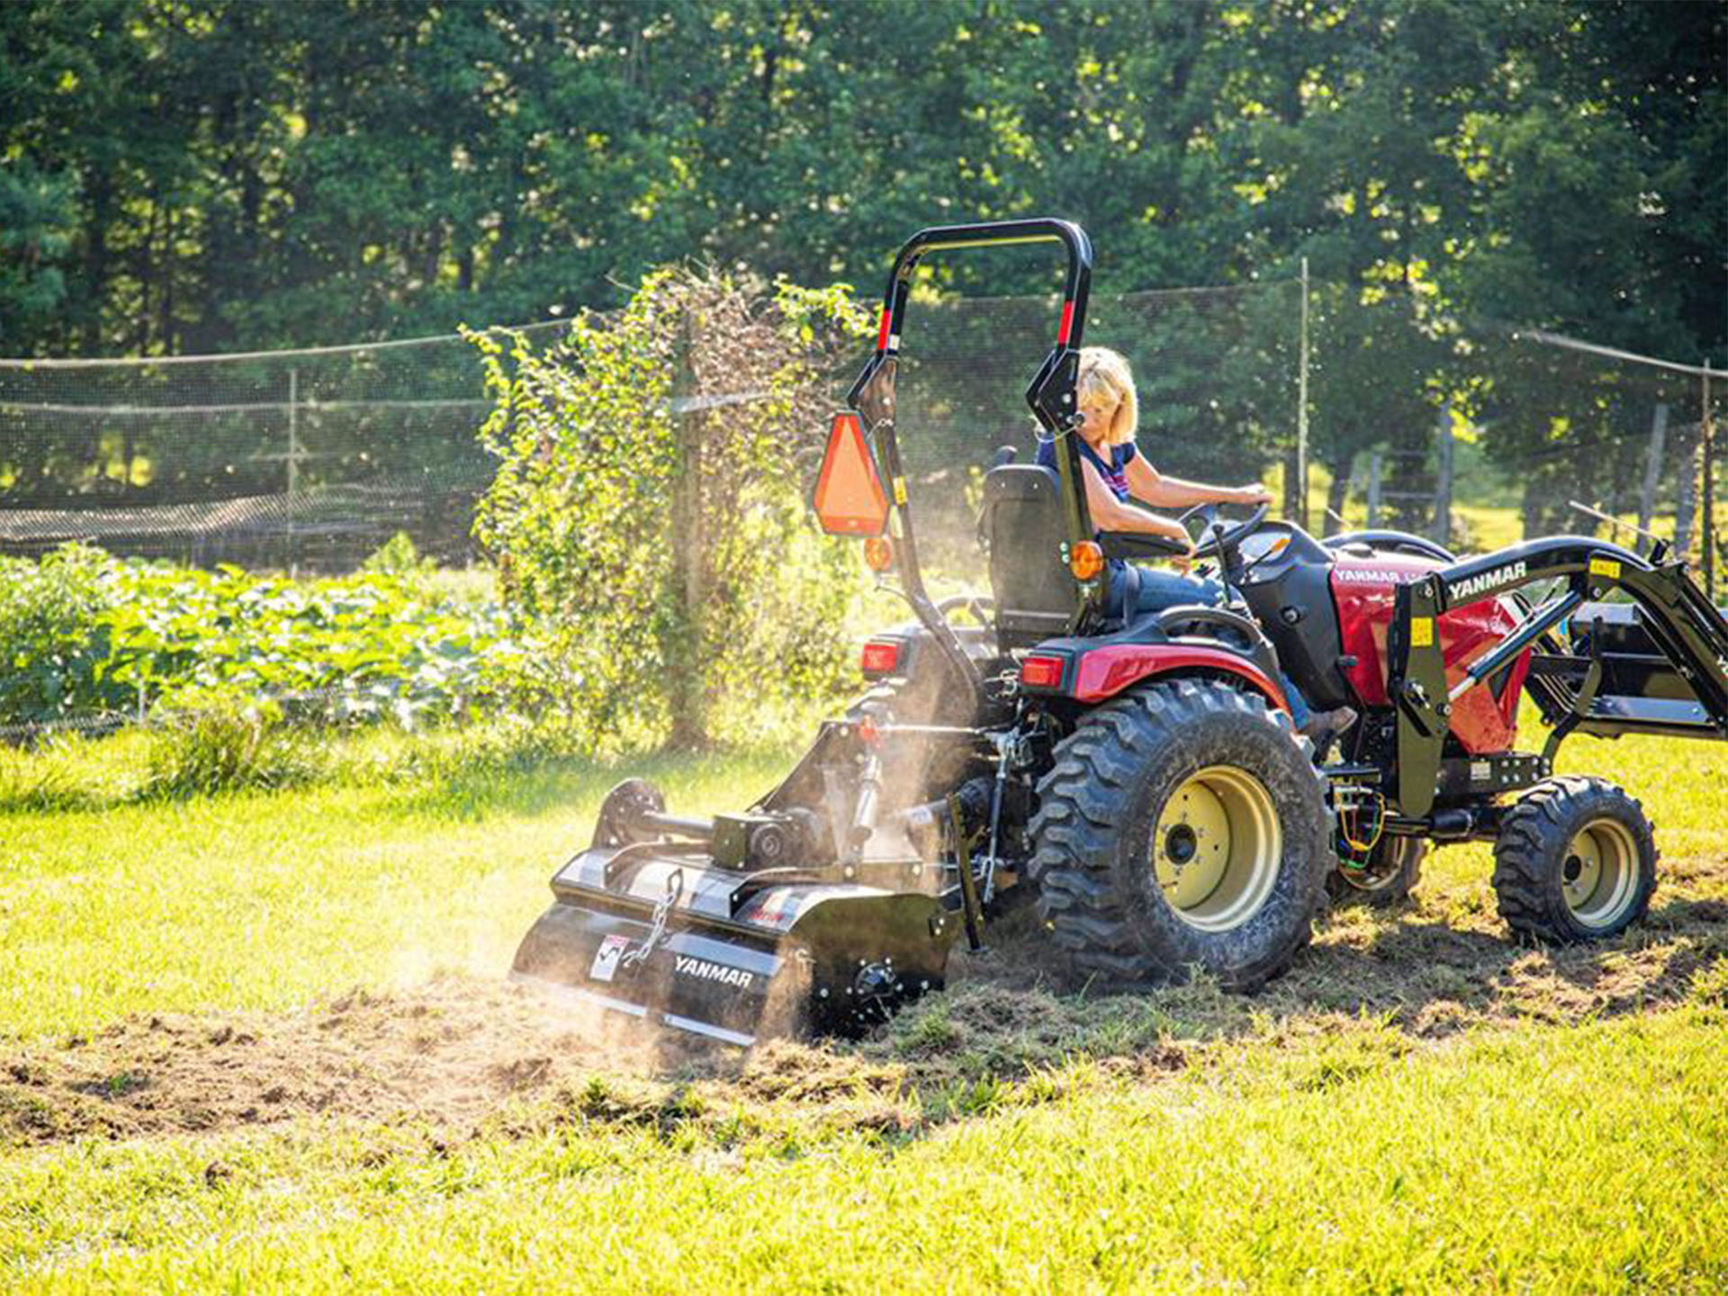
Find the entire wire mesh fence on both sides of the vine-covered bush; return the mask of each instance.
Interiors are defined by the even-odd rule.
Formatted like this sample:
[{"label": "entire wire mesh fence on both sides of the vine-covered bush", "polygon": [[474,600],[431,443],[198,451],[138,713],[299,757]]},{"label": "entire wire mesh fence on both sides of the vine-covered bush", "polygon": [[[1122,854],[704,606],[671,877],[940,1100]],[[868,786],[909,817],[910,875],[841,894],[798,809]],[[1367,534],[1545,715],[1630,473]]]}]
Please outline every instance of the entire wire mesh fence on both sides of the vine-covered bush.
[{"label": "entire wire mesh fence on both sides of the vine-covered bush", "polygon": [[[1035,451],[1021,394],[1052,320],[1045,297],[912,311],[902,442],[926,484],[926,529],[956,563],[969,555],[976,473],[1002,444]],[[544,346],[567,328],[522,332]],[[1704,366],[1296,280],[1096,295],[1087,340],[1130,358],[1139,442],[1159,470],[1274,480],[1286,513],[1315,530],[1398,525],[1458,550],[1607,534],[1578,501],[1619,518],[1623,541],[1631,527],[1659,534],[1721,581],[1707,470],[1721,458],[1721,375]],[[90,541],[192,565],[340,572],[408,532],[465,562],[492,473],[475,435],[487,413],[479,354],[456,335],[0,359],[0,553]]]}]

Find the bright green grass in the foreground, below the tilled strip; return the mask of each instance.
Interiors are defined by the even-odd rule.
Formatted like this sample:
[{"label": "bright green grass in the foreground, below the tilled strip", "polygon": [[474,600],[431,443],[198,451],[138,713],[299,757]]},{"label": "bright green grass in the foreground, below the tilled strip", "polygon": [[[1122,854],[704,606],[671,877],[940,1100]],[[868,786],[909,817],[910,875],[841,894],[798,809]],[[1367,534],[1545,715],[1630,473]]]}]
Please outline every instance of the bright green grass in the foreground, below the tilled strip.
[{"label": "bright green grass in the foreground, below the tilled strip", "polygon": [[0,1274],[41,1291],[1719,1291],[1725,1026],[1685,1009],[1320,1078],[1242,1047],[916,1140],[570,1125],[444,1154],[404,1130],[35,1154],[0,1165]]}]

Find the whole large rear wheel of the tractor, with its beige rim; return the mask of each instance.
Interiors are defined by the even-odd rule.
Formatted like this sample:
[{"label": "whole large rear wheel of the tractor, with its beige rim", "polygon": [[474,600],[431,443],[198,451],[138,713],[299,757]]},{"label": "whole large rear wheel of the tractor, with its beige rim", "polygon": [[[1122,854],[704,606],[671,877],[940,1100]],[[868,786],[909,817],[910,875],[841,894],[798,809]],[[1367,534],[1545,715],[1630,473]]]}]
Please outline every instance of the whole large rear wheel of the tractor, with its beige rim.
[{"label": "whole large rear wheel of the tractor, with its beige rim", "polygon": [[1085,715],[1032,821],[1039,916],[1080,978],[1249,990],[1308,943],[1332,817],[1289,715],[1182,679]]}]

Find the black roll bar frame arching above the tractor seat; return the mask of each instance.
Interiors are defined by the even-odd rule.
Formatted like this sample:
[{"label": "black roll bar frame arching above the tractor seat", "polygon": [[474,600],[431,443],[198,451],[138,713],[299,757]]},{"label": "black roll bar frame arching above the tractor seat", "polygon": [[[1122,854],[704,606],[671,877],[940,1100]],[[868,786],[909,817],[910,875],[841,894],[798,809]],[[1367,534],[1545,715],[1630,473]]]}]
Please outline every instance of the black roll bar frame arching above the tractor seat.
[{"label": "black roll bar frame arching above the tractor seat", "polygon": [[[1085,489],[1080,477],[1080,446],[1075,437],[1066,435],[1078,425],[1075,382],[1080,375],[1080,337],[1085,332],[1087,297],[1092,290],[1092,240],[1073,221],[1040,218],[1030,221],[990,221],[985,225],[935,225],[907,238],[893,259],[893,271],[888,275],[881,323],[876,332],[876,351],[847,394],[847,404],[862,418],[874,442],[878,465],[888,477],[890,534],[895,541],[895,565],[905,598],[918,613],[919,622],[942,645],[943,655],[954,664],[961,679],[975,693],[982,691],[978,669],[966,657],[947,619],[930,601],[918,565],[918,541],[912,534],[905,475],[900,468],[900,442],[895,435],[895,358],[900,353],[900,328],[905,321],[905,306],[912,294],[912,271],[924,256],[964,247],[1045,242],[1056,242],[1066,249],[1068,276],[1063,287],[1056,346],[1044,358],[1037,375],[1026,387],[1026,404],[1032,408],[1032,415],[1039,420],[1039,425],[1056,441],[1059,494],[1068,522],[1068,543],[1073,546],[1083,539],[1090,539],[1092,524],[1087,515]],[[1099,582],[1077,584],[1077,622],[1101,593],[1102,588]]]}]

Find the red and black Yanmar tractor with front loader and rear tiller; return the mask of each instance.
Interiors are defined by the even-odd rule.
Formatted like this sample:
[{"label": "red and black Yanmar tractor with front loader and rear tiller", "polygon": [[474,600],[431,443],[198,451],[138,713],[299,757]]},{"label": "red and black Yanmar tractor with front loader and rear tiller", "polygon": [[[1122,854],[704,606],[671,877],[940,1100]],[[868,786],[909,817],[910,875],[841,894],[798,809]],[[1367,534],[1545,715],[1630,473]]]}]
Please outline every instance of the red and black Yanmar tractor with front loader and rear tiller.
[{"label": "red and black Yanmar tractor with front loader and rear tiller", "polygon": [[[935,601],[895,425],[912,271],[933,252],[1066,251],[1056,344],[1026,389],[1056,470],[983,477],[988,596]],[[1030,892],[1077,980],[1140,987],[1201,968],[1251,988],[1325,902],[1403,895],[1427,842],[1495,843],[1500,914],[1545,942],[1612,937],[1655,886],[1638,802],[1555,778],[1572,733],[1728,738],[1728,622],[1662,546],[1560,536],[1458,560],[1394,530],[1317,541],[1260,506],[1192,510],[1227,607],[1104,615],[1108,558],[1173,550],[1099,534],[1075,380],[1092,249],[1054,219],[923,230],[895,257],[876,351],[816,486],[916,620],[864,645],[867,693],[740,814],[669,814],[629,781],[553,876],[515,975],[657,1025],[748,1045],[857,1032],[935,990],[952,945]],[[988,435],[988,432],[982,432]],[[1526,591],[1547,588],[1533,605]],[[1298,738],[1355,707],[1341,752]],[[1519,700],[1550,726],[1519,750]]]}]

